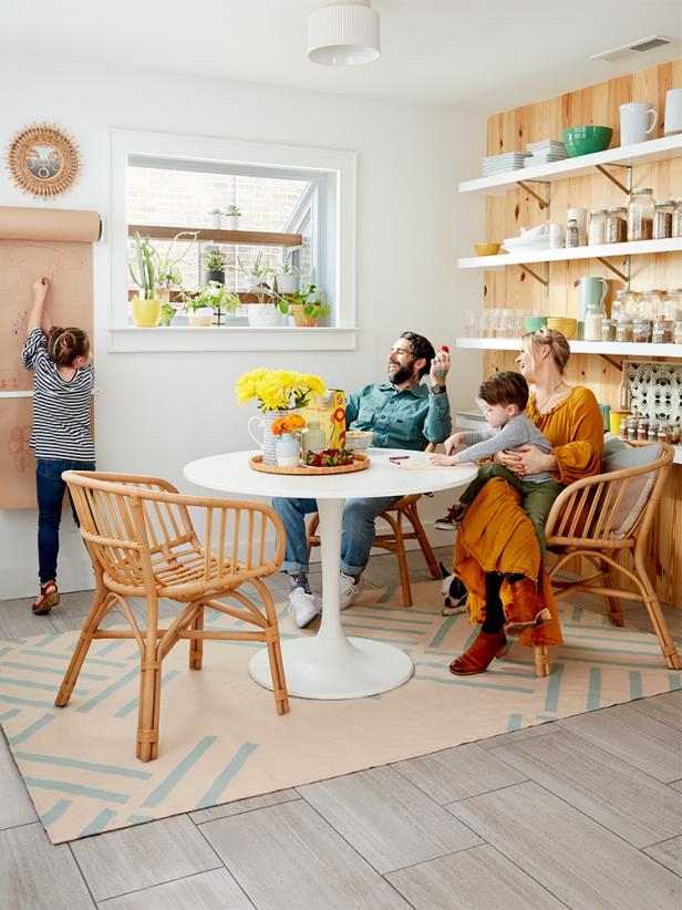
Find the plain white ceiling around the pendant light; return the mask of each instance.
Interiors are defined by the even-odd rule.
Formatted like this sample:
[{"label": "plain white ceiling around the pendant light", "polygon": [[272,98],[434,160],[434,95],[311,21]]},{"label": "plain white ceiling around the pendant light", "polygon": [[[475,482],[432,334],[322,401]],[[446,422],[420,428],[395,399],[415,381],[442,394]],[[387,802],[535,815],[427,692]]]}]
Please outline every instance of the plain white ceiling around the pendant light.
[{"label": "plain white ceiling around the pendant light", "polygon": [[[318,6],[318,0],[6,0],[0,52],[482,113],[682,55],[681,0],[373,0],[381,14],[381,59],[332,69],[306,55],[308,14]],[[618,63],[588,61],[651,34],[671,37],[675,44]]]}]

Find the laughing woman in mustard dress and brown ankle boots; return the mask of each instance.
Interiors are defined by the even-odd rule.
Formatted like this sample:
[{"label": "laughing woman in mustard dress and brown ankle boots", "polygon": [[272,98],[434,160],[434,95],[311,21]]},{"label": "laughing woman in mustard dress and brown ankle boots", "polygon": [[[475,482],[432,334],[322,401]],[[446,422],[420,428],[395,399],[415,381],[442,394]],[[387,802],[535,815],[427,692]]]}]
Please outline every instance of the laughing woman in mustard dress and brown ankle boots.
[{"label": "laughing woman in mustard dress and brown ankle boots", "polygon": [[[519,372],[535,385],[526,414],[552,444],[549,454],[536,446],[502,452],[495,461],[518,476],[551,472],[562,486],[598,474],[603,448],[603,420],[593,393],[570,386],[564,370],[570,349],[561,332],[540,329],[524,335],[516,359]],[[538,592],[552,621],[520,637],[527,645],[562,644],[561,629],[549,579],[530,519],[520,507],[520,495],[503,477],[489,480],[468,508],[457,535],[454,571],[468,590],[471,621],[480,632],[450,665],[456,675],[483,673],[507,648],[505,622],[513,619],[507,576],[537,579]]]}]

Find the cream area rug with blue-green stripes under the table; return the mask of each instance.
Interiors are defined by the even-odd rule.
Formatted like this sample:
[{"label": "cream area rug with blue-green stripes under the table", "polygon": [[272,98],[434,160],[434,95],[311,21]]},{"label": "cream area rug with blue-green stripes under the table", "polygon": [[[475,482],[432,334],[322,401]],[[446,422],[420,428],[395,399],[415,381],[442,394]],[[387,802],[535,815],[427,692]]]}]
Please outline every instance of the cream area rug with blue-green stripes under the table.
[{"label": "cream area rug with blue-green stripes under the table", "polygon": [[[374,589],[347,610],[349,634],[404,649],[414,676],[369,699],[290,699],[251,681],[251,642],[207,642],[204,669],[188,643],[164,661],[159,757],[135,758],[138,653],[130,640],[96,641],[70,704],[53,700],[76,633],[0,641],[0,723],[53,844],[308,784],[680,687],[653,634],[616,629],[579,608],[562,612],[566,647],[536,679],[533,654],[513,645],[486,673],[447,664],[476,634],[466,614],[441,616],[440,582]],[[235,622],[214,611],[208,622]],[[281,612],[282,638],[299,631]]]}]

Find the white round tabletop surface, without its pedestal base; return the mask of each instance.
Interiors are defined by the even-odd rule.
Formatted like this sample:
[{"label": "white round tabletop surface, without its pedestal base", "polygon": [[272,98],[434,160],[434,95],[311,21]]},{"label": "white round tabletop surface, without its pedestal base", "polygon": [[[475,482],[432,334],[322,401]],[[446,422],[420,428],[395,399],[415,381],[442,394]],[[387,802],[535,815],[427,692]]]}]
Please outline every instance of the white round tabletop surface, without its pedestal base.
[{"label": "white round tabletop surface, without its pedestal base", "polygon": [[185,478],[207,489],[246,496],[286,496],[288,498],[349,499],[372,496],[406,496],[410,493],[435,492],[463,486],[476,476],[475,465],[402,470],[389,462],[390,455],[409,455],[426,459],[423,452],[399,448],[370,448],[370,466],[352,474],[264,474],[249,466],[252,452],[228,452],[185,465]]}]

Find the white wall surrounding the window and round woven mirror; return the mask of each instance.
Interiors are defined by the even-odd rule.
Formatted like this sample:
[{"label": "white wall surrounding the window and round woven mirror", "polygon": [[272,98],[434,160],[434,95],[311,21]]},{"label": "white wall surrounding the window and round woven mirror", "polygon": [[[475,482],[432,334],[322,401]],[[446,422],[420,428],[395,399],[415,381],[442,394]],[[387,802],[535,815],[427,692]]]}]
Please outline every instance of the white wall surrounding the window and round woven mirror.
[{"label": "white wall surrounding the window and round woven mirror", "polygon": [[[450,342],[452,348],[462,334],[464,310],[483,300],[480,277],[455,269],[456,257],[483,237],[483,199],[456,193],[459,179],[478,173],[485,144],[480,116],[148,71],[55,66],[38,58],[4,58],[0,84],[3,145],[24,125],[48,121],[76,139],[82,157],[74,188],[49,203],[22,195],[4,172],[0,205],[89,208],[104,217],[104,239],[94,247],[102,469],[156,474],[188,490],[185,463],[250,447],[246,421],[254,412],[238,410],[234,396],[242,371],[259,364],[304,366],[342,389],[382,381],[386,350],[400,332],[412,329],[436,347]],[[312,352],[304,364],[296,352],[107,354],[112,127],[358,152],[358,350]],[[479,355],[455,353],[453,407],[472,406],[479,380]],[[443,501],[426,503],[426,518],[442,510]],[[0,511],[0,598],[33,593],[34,511]],[[89,579],[80,539],[64,527],[60,587],[90,587]]]}]

